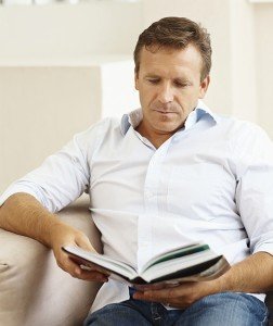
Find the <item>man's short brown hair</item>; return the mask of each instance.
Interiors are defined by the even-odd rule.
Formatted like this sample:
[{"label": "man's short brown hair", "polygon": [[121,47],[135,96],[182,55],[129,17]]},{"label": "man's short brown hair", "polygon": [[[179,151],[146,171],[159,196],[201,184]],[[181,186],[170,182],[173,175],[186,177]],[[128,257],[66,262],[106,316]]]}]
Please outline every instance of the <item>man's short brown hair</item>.
[{"label": "man's short brown hair", "polygon": [[202,80],[209,74],[211,68],[211,46],[207,29],[185,17],[165,17],[153,23],[139,37],[133,58],[134,72],[140,70],[140,52],[143,47],[185,49],[193,45],[199,51],[203,60]]}]

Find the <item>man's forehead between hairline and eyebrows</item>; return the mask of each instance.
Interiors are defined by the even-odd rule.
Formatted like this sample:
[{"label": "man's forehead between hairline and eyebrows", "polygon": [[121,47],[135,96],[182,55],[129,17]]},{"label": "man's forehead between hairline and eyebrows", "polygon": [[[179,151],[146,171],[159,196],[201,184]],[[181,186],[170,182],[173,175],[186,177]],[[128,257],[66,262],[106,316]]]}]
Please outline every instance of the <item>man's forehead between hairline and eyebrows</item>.
[{"label": "man's forehead between hairline and eyebrows", "polygon": [[200,74],[202,55],[188,45],[185,49],[142,48],[140,74]]}]

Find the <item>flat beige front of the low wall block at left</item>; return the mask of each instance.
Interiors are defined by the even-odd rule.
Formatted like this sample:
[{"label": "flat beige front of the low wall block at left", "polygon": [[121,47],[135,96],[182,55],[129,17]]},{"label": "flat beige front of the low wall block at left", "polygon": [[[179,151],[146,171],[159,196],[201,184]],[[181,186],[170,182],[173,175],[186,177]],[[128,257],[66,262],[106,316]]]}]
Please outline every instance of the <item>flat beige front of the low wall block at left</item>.
[{"label": "flat beige front of the low wall block at left", "polygon": [[98,74],[84,67],[0,68],[0,191],[100,118]]}]

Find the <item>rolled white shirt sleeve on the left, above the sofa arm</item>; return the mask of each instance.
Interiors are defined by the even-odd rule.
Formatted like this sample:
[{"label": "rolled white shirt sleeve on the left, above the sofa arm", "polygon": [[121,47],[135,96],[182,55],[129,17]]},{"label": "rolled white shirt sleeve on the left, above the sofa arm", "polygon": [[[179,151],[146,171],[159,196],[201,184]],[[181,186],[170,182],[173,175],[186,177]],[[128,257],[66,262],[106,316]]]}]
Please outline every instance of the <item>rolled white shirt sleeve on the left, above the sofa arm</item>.
[{"label": "rolled white shirt sleeve on the left, above the sofa arm", "polygon": [[12,195],[26,192],[54,213],[89,191],[89,163],[95,148],[98,124],[77,134],[62,150],[50,155],[42,165],[13,183],[0,197],[0,205]]}]

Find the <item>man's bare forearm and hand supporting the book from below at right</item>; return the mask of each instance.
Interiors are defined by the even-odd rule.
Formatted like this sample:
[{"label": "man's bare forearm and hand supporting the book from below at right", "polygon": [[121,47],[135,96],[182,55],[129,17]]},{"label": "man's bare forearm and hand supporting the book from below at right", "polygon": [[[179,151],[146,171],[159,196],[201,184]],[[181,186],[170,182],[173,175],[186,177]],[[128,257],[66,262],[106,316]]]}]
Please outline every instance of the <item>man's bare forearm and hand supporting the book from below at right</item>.
[{"label": "man's bare forearm and hand supporting the book from below at right", "polygon": [[185,309],[195,301],[219,292],[260,293],[273,288],[273,256],[257,252],[235,264],[225,274],[209,281],[184,283],[162,290],[135,292],[134,299],[157,301]]}]

